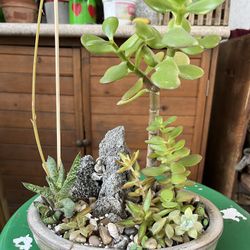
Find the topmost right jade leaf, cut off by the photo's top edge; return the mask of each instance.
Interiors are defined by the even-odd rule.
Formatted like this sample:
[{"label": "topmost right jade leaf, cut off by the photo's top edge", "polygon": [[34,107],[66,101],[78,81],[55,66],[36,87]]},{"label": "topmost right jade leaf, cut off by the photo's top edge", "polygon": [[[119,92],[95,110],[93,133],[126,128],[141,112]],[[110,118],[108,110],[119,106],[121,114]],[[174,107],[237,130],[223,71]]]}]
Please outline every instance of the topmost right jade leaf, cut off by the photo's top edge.
[{"label": "topmost right jade leaf, cut off by the photo's top edge", "polygon": [[225,0],[199,0],[190,3],[186,11],[192,14],[204,15],[216,9]]}]

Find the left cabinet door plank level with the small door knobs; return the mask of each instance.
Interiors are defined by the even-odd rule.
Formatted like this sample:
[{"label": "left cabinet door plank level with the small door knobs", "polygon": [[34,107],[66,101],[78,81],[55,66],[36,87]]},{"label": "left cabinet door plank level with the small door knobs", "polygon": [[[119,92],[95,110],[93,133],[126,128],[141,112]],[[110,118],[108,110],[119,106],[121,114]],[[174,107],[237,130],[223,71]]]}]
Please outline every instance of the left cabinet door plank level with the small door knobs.
[{"label": "left cabinet door plank level with the small door knobs", "polygon": [[[56,131],[52,129],[39,129],[42,145],[56,145]],[[0,128],[0,138],[3,144],[35,145],[33,129],[27,128]],[[62,145],[74,147],[77,140],[74,130],[62,130]]]}]

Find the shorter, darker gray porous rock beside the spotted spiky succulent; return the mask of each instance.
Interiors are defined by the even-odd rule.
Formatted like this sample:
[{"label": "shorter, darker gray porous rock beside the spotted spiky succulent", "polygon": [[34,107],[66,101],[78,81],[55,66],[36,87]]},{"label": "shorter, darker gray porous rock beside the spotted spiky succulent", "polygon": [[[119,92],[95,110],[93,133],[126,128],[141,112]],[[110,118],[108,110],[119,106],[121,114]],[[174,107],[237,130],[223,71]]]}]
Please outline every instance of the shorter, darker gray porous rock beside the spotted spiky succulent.
[{"label": "shorter, darker gray porous rock beside the spotted spiky succulent", "polygon": [[91,178],[94,173],[94,165],[95,161],[91,155],[86,155],[81,159],[77,180],[72,188],[73,198],[86,200],[89,197],[98,197],[101,184]]}]

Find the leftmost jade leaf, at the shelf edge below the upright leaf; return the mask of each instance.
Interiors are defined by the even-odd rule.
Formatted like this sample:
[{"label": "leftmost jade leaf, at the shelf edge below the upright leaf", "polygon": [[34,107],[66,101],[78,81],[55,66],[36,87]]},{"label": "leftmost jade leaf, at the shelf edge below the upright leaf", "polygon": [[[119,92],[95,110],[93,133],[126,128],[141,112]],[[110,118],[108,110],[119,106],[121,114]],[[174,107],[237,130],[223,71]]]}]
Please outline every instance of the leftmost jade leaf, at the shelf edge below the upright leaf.
[{"label": "leftmost jade leaf, at the shelf edge below the upright leaf", "polygon": [[115,49],[106,40],[91,34],[84,34],[81,37],[82,45],[93,54],[113,53]]}]

